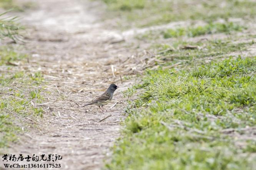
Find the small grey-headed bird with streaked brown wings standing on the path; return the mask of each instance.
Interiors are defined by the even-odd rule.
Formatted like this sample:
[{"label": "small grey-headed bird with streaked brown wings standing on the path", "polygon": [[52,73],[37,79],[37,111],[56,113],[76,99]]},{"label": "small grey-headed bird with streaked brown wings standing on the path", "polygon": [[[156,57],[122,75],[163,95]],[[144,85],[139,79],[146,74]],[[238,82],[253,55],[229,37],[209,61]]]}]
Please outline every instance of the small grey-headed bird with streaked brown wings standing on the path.
[{"label": "small grey-headed bird with streaked brown wings standing on the path", "polygon": [[91,101],[90,103],[87,103],[86,105],[83,105],[82,107],[85,107],[85,106],[88,106],[88,105],[97,105],[97,106],[99,106],[99,108],[100,108],[100,106],[101,106],[101,108],[103,108],[104,105],[110,103],[110,101],[113,98],[113,94],[114,94],[114,92],[116,91],[117,88],[119,88],[119,87],[112,83],[108,87],[108,89],[106,90],[105,93],[98,96],[95,100]]}]

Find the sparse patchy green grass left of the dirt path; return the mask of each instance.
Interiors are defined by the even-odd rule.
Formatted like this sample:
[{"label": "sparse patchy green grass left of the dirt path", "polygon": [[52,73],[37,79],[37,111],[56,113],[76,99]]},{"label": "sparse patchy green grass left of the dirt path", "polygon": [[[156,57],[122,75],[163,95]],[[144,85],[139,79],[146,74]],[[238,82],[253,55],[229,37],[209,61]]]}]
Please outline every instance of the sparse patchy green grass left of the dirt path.
[{"label": "sparse patchy green grass left of the dirt path", "polygon": [[[17,141],[16,134],[22,133],[21,126],[26,127],[22,120],[27,116],[43,116],[42,108],[34,108],[31,104],[40,103],[43,96],[40,90],[32,86],[42,83],[40,72],[30,73],[25,70],[17,70],[17,67],[8,66],[9,62],[23,61],[27,55],[14,52],[11,48],[2,47],[0,50],[0,67],[7,68],[0,74],[0,148],[8,147]],[[26,130],[26,128],[25,128]]]}]

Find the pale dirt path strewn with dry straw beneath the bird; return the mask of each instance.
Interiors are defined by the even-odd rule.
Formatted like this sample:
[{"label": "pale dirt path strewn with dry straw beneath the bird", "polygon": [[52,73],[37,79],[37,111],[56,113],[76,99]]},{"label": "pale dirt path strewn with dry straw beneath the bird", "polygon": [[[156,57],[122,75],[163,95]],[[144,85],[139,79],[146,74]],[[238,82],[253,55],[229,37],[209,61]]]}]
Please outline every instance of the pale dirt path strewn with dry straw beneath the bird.
[{"label": "pale dirt path strewn with dry straw beneath the bird", "polygon": [[[45,78],[46,85],[37,87],[42,89],[44,102],[35,105],[45,113],[43,119],[27,120],[37,128],[27,127],[30,130],[20,137],[21,142],[8,152],[58,154],[63,157],[61,169],[99,169],[119,136],[120,119],[125,117],[121,92],[133,83],[121,83],[121,72],[114,76],[111,65],[115,69],[122,57],[132,54],[131,49],[118,43],[123,39],[111,30],[111,21],[100,20],[104,6],[99,2],[35,2],[37,10],[18,15],[28,27],[24,52],[32,54],[32,59],[27,69],[40,70]],[[105,106],[105,113],[93,106],[78,108],[112,82],[121,88]],[[99,122],[110,113],[110,118]]]}]

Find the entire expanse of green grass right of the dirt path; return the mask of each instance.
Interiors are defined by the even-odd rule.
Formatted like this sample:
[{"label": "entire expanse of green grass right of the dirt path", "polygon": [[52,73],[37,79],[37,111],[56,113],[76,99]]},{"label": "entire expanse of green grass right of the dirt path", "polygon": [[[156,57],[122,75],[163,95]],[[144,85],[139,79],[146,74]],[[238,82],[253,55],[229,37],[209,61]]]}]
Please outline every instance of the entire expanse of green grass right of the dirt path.
[{"label": "entire expanse of green grass right of the dirt path", "polygon": [[[105,168],[252,170],[256,166],[255,130],[250,130],[256,126],[256,57],[238,54],[246,53],[254,41],[241,41],[253,35],[236,34],[247,26],[229,19],[254,20],[256,2],[104,2],[110,15],[120,18],[121,28],[192,20],[188,28],[151,30],[138,36],[157,43],[147,50],[156,54],[158,67],[146,70],[142,83],[125,93],[127,98],[135,93],[138,98],[128,100],[129,115]],[[219,18],[225,22],[216,22]],[[208,24],[193,26],[193,20]],[[187,40],[216,33],[228,38]]]}]

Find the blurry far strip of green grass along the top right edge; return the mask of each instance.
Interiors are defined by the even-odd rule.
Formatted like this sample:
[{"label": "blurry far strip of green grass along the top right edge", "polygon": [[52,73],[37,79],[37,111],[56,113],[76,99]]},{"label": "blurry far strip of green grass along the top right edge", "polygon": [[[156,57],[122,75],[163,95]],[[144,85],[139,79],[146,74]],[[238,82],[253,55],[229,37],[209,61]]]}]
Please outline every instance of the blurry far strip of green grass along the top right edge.
[{"label": "blurry far strip of green grass along the top right edge", "polygon": [[120,18],[120,26],[151,26],[180,20],[215,21],[218,18],[254,18],[256,2],[250,0],[103,0]]}]

